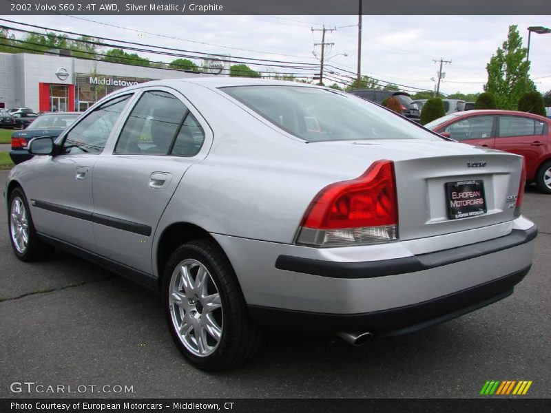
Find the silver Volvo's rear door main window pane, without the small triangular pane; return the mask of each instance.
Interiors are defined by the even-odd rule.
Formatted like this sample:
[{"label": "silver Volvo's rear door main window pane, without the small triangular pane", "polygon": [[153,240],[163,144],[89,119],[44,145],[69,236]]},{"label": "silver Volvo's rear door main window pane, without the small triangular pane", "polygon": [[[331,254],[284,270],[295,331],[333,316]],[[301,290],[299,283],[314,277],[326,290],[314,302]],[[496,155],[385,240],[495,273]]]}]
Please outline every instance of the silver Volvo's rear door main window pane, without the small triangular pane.
[{"label": "silver Volvo's rear door main window pane, without the small triangular pane", "polygon": [[176,134],[185,129],[183,121],[188,113],[174,95],[159,90],[145,92],[130,112],[114,153],[167,155]]}]

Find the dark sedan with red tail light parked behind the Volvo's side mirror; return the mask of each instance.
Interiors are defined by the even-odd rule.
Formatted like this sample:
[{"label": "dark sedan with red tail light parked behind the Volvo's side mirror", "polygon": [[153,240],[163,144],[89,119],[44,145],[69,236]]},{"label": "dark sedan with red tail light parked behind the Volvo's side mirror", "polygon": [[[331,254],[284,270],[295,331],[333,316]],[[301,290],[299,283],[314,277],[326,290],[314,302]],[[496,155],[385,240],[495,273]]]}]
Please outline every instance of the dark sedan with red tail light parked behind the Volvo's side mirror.
[{"label": "dark sedan with red tail light parked behind the Volvo's side mirror", "polygon": [[38,136],[57,138],[63,130],[80,116],[79,112],[51,112],[38,116],[27,129],[15,131],[12,134],[12,150],[10,158],[14,164],[19,164],[32,158],[28,151],[28,143]]}]

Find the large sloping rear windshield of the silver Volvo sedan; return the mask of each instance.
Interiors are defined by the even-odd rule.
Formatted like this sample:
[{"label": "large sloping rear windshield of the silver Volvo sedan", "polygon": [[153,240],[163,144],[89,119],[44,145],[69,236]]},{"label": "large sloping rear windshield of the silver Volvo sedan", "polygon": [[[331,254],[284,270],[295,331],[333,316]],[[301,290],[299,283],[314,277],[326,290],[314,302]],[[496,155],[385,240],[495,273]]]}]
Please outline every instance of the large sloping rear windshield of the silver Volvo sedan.
[{"label": "large sloping rear windshield of the silver Volvo sedan", "polygon": [[231,86],[223,92],[274,125],[309,142],[323,140],[438,139],[373,103],[303,86]]}]

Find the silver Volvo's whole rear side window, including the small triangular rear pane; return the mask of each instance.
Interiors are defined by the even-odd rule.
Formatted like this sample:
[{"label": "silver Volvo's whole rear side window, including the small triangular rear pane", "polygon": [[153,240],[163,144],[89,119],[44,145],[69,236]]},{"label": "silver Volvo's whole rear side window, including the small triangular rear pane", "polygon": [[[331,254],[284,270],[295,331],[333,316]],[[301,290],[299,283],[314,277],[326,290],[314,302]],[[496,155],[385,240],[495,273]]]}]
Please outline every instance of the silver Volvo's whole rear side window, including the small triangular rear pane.
[{"label": "silver Volvo's whole rear side window, including the small triangular rear pane", "polygon": [[114,153],[193,156],[204,137],[196,118],[181,100],[154,90],[145,92],[130,112]]}]

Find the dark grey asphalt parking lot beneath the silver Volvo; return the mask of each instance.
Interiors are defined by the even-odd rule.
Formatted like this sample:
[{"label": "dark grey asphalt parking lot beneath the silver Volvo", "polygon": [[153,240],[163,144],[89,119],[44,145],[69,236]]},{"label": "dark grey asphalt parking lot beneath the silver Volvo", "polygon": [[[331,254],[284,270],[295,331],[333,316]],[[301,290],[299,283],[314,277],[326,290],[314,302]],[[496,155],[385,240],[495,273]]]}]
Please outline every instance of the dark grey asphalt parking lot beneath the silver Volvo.
[{"label": "dark grey asphalt parking lot beneath the silver Volvo", "polygon": [[532,271],[511,297],[361,348],[271,333],[253,363],[207,374],[180,357],[156,295],[64,253],[19,262],[1,207],[0,397],[79,395],[10,392],[23,381],[134,390],[80,394],[91,397],[475,397],[490,379],[532,380],[527,396],[550,397],[551,195],[529,189],[523,211],[540,233]]}]

